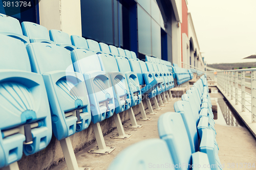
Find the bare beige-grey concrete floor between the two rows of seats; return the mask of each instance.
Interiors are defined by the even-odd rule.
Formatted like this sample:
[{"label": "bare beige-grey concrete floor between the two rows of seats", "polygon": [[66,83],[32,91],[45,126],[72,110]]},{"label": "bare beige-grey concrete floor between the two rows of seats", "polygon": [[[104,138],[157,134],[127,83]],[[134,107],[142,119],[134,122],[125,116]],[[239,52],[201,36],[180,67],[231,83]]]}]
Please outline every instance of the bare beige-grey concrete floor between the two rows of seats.
[{"label": "bare beige-grey concrete floor between the two rows of seats", "polygon": [[[76,159],[78,162],[79,167],[87,167],[91,168],[92,170],[103,170],[107,169],[110,165],[111,161],[125,148],[129,147],[131,144],[137,143],[144,139],[149,138],[159,138],[158,130],[157,130],[157,122],[158,118],[161,114],[174,111],[174,103],[181,98],[174,98],[173,101],[169,101],[168,104],[165,104],[165,107],[161,107],[162,110],[157,110],[158,114],[156,115],[148,115],[148,117],[152,117],[152,120],[141,121],[137,120],[138,124],[142,124],[143,127],[141,129],[127,129],[124,128],[126,134],[132,134],[129,139],[111,139],[110,137],[117,133],[115,129],[108,135],[104,136],[106,145],[109,147],[115,147],[116,149],[108,155],[101,155],[101,154],[93,154],[88,153],[94,147],[97,147],[97,143],[94,142],[88,147],[84,148],[80,152],[76,154]],[[139,119],[140,115],[136,116],[136,119]],[[123,127],[131,124],[131,121],[128,120],[126,123],[123,124]],[[65,162],[58,164],[57,166],[53,167],[52,170],[68,170],[67,165]]]}]

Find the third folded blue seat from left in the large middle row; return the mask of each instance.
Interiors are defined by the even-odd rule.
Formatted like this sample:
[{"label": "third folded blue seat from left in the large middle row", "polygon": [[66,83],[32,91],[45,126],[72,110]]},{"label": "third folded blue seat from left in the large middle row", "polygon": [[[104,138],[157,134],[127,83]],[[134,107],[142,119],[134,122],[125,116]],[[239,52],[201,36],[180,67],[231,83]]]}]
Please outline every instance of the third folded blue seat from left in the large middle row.
[{"label": "third folded blue seat from left in the large middle row", "polygon": [[113,115],[115,110],[111,80],[105,75],[99,56],[93,52],[77,49],[71,52],[75,71],[86,81],[90,99],[92,122],[101,122]]}]

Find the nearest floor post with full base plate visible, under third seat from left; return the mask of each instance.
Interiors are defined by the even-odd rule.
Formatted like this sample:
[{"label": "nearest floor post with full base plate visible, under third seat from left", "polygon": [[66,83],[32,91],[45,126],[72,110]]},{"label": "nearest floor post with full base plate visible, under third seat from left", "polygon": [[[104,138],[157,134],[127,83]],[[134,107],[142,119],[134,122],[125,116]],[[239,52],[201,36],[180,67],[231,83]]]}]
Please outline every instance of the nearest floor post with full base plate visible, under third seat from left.
[{"label": "nearest floor post with full base plate visible, under third seat from left", "polygon": [[93,148],[89,153],[110,154],[115,148],[106,147],[99,123],[93,124],[93,131],[96,137],[98,148]]}]

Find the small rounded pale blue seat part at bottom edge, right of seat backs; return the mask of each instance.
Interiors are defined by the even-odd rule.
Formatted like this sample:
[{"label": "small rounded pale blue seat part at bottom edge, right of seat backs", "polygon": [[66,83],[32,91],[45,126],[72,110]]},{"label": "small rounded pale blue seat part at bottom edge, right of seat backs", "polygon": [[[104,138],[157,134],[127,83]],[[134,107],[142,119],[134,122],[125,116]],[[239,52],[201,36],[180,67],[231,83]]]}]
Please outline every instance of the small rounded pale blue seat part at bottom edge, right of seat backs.
[{"label": "small rounded pale blue seat part at bottom edge, right of seat backs", "polygon": [[[200,169],[205,169],[205,170],[210,170],[210,167],[207,167],[209,165],[209,158],[206,153],[203,152],[195,152],[192,154],[192,164],[194,167],[192,168],[193,170],[200,170]],[[200,166],[198,166],[200,165]],[[204,167],[205,165],[205,167]]]}]

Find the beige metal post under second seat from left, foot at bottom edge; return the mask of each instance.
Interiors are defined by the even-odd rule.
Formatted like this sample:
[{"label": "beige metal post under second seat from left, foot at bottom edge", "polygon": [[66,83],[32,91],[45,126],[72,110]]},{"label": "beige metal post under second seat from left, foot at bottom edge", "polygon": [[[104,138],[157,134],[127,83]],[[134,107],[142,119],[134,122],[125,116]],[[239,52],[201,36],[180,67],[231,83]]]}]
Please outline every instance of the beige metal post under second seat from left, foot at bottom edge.
[{"label": "beige metal post under second seat from left, foot at bottom edge", "polygon": [[68,169],[69,170],[84,169],[84,167],[78,167],[70,137],[62,139],[59,142],[60,142],[63,155],[65,157],[65,161],[68,166]]}]

